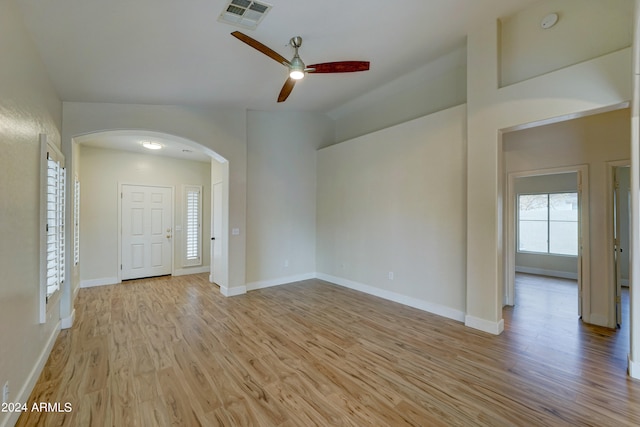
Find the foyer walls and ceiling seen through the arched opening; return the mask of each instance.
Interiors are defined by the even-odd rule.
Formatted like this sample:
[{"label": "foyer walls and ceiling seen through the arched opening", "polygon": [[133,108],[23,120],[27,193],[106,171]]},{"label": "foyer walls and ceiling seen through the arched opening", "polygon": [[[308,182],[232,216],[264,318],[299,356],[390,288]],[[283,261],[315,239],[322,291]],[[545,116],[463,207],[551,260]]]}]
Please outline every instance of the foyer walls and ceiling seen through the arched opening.
[{"label": "foyer walls and ceiling seen through the arched opening", "polygon": [[[160,150],[147,150],[143,142],[154,142]],[[74,256],[69,256],[71,293],[79,287],[119,283],[123,278],[122,256],[122,209],[124,185],[163,186],[170,189],[172,198],[171,226],[163,228],[165,240],[171,238],[171,274],[183,275],[210,271],[215,265],[218,271],[211,272],[210,281],[224,288],[228,283],[228,176],[229,162],[215,151],[195,141],[176,135],[154,131],[113,130],[86,133],[72,138],[71,174],[77,177],[82,188],[83,203],[74,209],[70,200],[69,210],[74,216],[69,224],[70,242],[75,242],[80,231],[86,256],[75,265]],[[206,176],[205,176],[206,175]],[[82,178],[85,179],[82,179]],[[83,183],[83,181],[86,181]],[[213,188],[222,188],[218,204],[213,204]],[[187,188],[201,188],[200,248],[202,262],[185,262],[187,238],[186,194]],[[76,189],[70,183],[71,191]],[[226,191],[225,191],[226,190]],[[167,194],[169,194],[167,193]],[[72,193],[69,193],[72,194]],[[73,198],[71,198],[73,199]],[[85,209],[82,209],[84,206]],[[77,212],[77,213],[76,213]],[[210,244],[212,224],[216,213],[220,235],[216,248]],[[221,218],[220,218],[221,217]],[[84,231],[84,233],[82,233]],[[70,248],[73,250],[74,248]],[[84,258],[84,259],[83,259]],[[83,261],[85,264],[83,264]]]}]

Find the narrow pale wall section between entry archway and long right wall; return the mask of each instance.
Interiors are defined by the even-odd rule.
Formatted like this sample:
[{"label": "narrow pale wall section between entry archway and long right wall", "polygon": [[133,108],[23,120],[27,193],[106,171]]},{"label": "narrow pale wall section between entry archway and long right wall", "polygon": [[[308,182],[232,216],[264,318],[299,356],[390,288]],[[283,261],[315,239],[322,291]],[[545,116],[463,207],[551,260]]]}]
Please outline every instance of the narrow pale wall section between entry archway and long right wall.
[{"label": "narrow pale wall section between entry archway and long right wall", "polygon": [[331,142],[324,115],[247,115],[247,288],[315,273],[316,150]]}]

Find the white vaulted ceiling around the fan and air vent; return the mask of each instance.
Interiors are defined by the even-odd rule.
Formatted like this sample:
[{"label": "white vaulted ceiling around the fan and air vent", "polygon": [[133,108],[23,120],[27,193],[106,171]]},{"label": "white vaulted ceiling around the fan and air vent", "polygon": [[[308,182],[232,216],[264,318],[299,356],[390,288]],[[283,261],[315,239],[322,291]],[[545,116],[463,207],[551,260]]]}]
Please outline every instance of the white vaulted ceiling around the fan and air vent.
[{"label": "white vaulted ceiling around the fan and air vent", "polygon": [[[217,21],[225,0],[17,0],[64,101],[331,112],[464,43],[479,22],[533,0],[269,0],[255,31]],[[307,64],[366,60],[361,73],[308,75],[276,103],[281,55],[302,36]]]}]

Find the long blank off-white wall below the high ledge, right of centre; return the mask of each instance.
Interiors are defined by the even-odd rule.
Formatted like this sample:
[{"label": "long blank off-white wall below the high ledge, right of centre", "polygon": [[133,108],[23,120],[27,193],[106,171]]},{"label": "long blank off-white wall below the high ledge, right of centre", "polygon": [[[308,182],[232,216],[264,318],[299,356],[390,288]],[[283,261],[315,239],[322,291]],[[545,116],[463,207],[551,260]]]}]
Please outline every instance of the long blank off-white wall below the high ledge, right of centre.
[{"label": "long blank off-white wall below the high ledge, right of centre", "polygon": [[464,318],[464,123],[459,106],[318,152],[321,278]]}]

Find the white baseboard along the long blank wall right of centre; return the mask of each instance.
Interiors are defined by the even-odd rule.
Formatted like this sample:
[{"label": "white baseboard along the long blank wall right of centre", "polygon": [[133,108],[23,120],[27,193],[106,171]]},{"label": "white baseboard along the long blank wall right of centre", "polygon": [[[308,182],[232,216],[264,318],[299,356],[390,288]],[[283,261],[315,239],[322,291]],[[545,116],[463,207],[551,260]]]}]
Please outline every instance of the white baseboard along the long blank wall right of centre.
[{"label": "white baseboard along the long blank wall right of centre", "polygon": [[459,322],[464,321],[464,312],[453,309],[451,307],[446,307],[444,305],[435,304],[429,301],[424,301],[424,300],[413,298],[407,295],[398,294],[396,292],[386,291],[384,289],[365,285],[359,282],[354,282],[349,279],[343,279],[341,277],[330,276],[324,273],[316,273],[316,277],[318,279],[325,280],[327,282],[331,282],[339,286],[344,286],[345,288],[353,289],[359,292],[364,292],[365,294],[373,295],[389,301],[404,304],[409,307],[417,308],[422,311],[437,314],[438,316],[457,320]]}]

